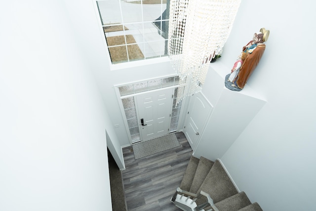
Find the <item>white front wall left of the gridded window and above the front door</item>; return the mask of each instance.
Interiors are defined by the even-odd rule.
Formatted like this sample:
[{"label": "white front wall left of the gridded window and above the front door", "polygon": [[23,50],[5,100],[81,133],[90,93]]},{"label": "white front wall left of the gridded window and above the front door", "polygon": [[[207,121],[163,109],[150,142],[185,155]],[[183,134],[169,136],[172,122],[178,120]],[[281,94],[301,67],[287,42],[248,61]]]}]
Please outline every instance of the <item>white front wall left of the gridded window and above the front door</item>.
[{"label": "white front wall left of the gridded window and above the front door", "polygon": [[[88,50],[86,57],[93,61],[94,68],[92,71],[100,87],[106,107],[108,111],[110,111],[111,124],[112,126],[119,125],[119,127],[115,127],[113,130],[117,138],[115,140],[111,139],[114,144],[118,142],[120,146],[129,145],[130,143],[128,141],[126,128],[124,127],[124,121],[114,86],[169,76],[175,74],[175,71],[167,58],[162,59],[164,62],[148,62],[147,65],[134,65],[133,67],[131,67],[130,64],[116,65],[120,67],[112,67],[113,69],[111,70],[111,62],[104,44],[105,38],[98,13],[94,11],[93,18],[87,15],[87,12],[91,12],[90,7],[92,4],[90,3],[93,2],[93,0],[76,0],[76,2],[77,1],[81,3],[76,3],[78,7],[76,8],[77,15],[72,18],[74,23],[73,27],[78,32],[77,39],[80,39],[80,42],[84,43],[87,49],[91,49],[91,46],[93,46],[93,53],[90,53],[91,51]],[[69,5],[69,7],[71,7],[74,3]],[[80,5],[80,7],[78,5]],[[84,30],[82,30],[82,24],[84,24]],[[110,134],[110,131],[108,132]]]}]

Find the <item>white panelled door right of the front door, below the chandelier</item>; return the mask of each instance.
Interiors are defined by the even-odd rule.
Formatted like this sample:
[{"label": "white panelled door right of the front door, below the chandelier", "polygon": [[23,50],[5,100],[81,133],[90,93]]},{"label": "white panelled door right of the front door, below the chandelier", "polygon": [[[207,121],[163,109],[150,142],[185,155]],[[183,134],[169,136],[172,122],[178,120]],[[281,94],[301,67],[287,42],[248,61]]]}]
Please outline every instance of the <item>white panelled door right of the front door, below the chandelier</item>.
[{"label": "white panelled door right of the front door, below the chandelier", "polygon": [[201,92],[191,96],[188,116],[183,132],[193,150],[195,150],[197,146],[197,142],[203,132],[211,110],[211,104]]}]

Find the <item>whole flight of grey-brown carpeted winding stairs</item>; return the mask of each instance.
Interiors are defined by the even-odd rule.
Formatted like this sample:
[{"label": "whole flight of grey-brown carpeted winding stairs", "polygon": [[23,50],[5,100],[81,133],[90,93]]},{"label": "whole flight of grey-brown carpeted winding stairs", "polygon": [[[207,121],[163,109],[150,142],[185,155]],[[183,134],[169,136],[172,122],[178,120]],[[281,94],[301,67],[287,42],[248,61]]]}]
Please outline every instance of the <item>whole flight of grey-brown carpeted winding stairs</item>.
[{"label": "whole flight of grey-brown carpeted winding stairs", "polygon": [[[193,194],[201,191],[208,193],[219,211],[262,211],[258,203],[252,204],[244,192],[238,193],[218,160],[213,162],[204,157],[198,159],[192,156],[180,189]],[[205,202],[207,198],[201,197],[197,199],[196,204],[201,205]],[[204,210],[212,208],[209,206]]]}]

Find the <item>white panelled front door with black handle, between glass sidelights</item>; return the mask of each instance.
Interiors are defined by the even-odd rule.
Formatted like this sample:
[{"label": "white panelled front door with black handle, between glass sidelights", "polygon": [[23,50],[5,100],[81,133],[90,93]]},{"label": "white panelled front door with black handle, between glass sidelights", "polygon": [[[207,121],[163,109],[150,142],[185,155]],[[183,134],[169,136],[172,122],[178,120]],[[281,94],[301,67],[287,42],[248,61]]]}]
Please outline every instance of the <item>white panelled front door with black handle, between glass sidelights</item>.
[{"label": "white panelled front door with black handle, between glass sidelights", "polygon": [[141,140],[168,134],[173,88],[136,96]]}]

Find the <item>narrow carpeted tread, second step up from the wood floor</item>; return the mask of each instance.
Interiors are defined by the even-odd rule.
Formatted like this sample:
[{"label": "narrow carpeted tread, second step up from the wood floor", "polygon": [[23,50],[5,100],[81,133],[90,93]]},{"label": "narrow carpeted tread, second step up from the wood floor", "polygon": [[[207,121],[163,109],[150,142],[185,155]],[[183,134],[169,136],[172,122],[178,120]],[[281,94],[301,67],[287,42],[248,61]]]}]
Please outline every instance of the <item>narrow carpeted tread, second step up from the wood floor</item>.
[{"label": "narrow carpeted tread, second step up from the wood floor", "polygon": [[210,161],[204,157],[200,157],[195,176],[192,180],[190,192],[197,193],[199,187],[203,183],[206,175],[208,174],[209,170],[212,168],[213,164],[214,164],[213,161]]}]

